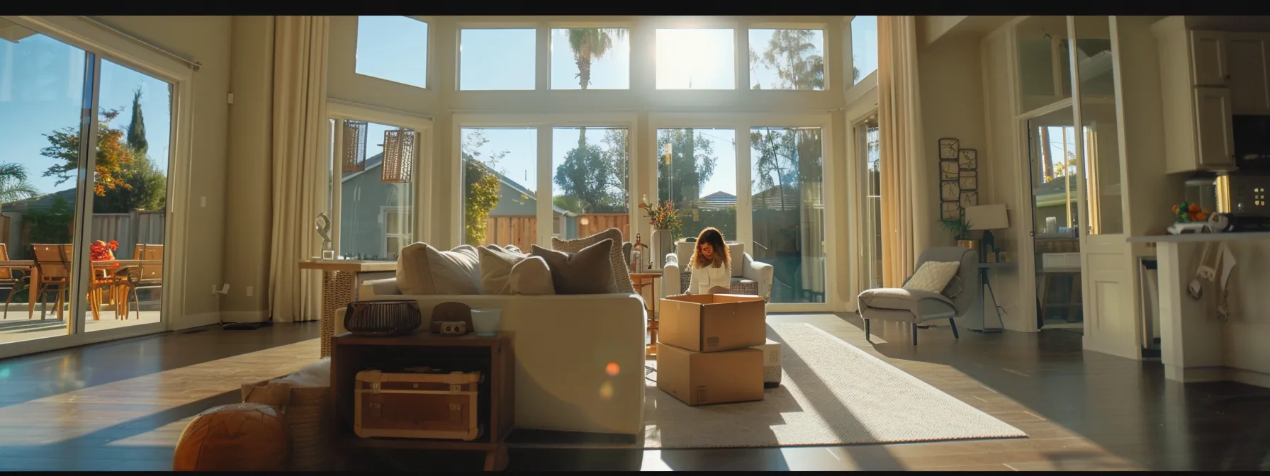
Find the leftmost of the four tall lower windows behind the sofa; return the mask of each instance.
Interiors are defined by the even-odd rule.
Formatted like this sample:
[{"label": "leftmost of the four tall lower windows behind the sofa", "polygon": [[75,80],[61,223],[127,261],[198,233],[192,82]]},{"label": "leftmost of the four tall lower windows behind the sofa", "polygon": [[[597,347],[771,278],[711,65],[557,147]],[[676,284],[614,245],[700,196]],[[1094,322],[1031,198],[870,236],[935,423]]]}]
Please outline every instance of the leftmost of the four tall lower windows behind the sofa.
[{"label": "leftmost of the four tall lower windows behind the sofa", "polygon": [[464,127],[462,242],[537,244],[537,128]]}]

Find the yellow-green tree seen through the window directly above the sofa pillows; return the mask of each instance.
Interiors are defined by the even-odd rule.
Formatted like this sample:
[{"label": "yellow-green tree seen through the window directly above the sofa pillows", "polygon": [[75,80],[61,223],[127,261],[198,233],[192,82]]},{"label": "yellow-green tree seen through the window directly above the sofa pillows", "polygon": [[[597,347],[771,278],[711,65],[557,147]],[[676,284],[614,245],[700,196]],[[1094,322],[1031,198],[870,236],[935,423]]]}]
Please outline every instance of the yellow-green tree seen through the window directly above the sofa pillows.
[{"label": "yellow-green tree seen through the window directly above the sofa pillows", "polygon": [[485,241],[489,213],[498,207],[503,187],[493,168],[507,151],[491,154],[481,160],[480,149],[489,140],[480,129],[467,135],[462,143],[464,159],[464,242],[480,246]]}]

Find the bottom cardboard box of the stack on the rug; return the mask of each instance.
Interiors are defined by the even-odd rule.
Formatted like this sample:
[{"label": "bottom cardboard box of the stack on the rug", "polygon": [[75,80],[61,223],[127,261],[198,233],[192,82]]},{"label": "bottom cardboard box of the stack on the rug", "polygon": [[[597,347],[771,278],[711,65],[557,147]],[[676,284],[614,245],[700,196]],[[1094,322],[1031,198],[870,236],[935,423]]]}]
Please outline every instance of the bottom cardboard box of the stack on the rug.
[{"label": "bottom cardboard box of the stack on the rug", "polygon": [[657,387],[688,405],[763,400],[763,352],[657,344]]}]

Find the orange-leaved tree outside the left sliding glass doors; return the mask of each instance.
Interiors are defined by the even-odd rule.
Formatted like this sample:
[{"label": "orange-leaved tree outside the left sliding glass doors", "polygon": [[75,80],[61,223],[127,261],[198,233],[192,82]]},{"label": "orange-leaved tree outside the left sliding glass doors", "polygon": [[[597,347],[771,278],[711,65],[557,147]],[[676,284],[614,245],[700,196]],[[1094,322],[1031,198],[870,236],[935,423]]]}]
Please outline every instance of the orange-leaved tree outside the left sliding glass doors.
[{"label": "orange-leaved tree outside the left sliding glass doors", "polygon": [[[97,132],[97,166],[93,170],[93,192],[100,197],[107,190],[130,188],[124,180],[124,168],[132,164],[132,147],[123,143],[123,131],[110,127],[119,109],[102,109]],[[48,146],[39,155],[60,161],[44,171],[43,176],[56,176],[57,185],[71,180],[79,173],[79,128],[65,127],[44,135]]]}]

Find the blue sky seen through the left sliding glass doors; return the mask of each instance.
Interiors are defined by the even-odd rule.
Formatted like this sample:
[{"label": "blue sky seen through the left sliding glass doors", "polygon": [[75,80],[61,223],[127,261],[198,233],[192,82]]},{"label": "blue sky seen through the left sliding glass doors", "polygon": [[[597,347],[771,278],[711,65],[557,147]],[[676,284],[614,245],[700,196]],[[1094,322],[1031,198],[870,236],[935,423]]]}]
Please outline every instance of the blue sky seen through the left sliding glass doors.
[{"label": "blue sky seen through the left sliding glass doors", "polygon": [[[41,193],[74,188],[74,180],[56,185],[42,176],[53,159],[39,155],[48,146],[44,135],[76,126],[84,86],[84,51],[43,34],[17,43],[0,39],[0,141],[3,162],[27,168],[28,182]],[[132,121],[132,91],[141,88],[141,112],[155,166],[166,173],[171,129],[171,95],[166,83],[102,60],[99,105],[122,109],[110,127],[127,129]]]}]

